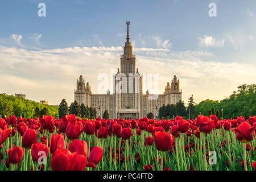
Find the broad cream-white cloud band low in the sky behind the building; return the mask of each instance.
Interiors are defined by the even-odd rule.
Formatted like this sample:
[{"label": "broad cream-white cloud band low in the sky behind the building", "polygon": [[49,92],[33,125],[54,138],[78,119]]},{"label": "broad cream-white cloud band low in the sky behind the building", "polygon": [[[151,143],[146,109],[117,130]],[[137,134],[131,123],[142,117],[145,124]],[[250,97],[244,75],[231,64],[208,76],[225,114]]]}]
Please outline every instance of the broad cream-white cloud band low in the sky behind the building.
[{"label": "broad cream-white cloud band low in the sky behind the building", "polygon": [[[110,69],[117,71],[122,51],[121,46],[33,51],[0,46],[0,93],[22,92],[31,100],[48,100],[53,105],[66,98],[70,104],[79,75],[83,75],[92,92],[97,93],[97,76],[110,75]],[[221,100],[237,86],[255,82],[254,65],[203,61],[212,58],[210,52],[164,48],[135,48],[134,52],[140,73],[159,73],[159,93],[163,93],[166,83],[177,75],[184,101],[192,94],[196,102],[206,98]],[[112,92],[113,88],[109,89]]]}]

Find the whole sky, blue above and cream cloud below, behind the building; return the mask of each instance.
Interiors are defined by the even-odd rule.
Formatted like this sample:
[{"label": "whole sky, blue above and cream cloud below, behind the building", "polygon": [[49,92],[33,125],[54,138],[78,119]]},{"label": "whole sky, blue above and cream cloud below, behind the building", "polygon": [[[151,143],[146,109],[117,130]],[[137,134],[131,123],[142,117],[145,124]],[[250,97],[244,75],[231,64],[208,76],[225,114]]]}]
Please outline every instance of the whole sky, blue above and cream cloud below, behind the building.
[{"label": "whole sky, blue above and cream cloud below, behind the building", "polygon": [[[46,16],[38,15],[39,3]],[[255,84],[254,0],[1,0],[0,93],[71,104],[82,75],[93,93],[104,94],[99,75],[110,80],[120,67],[127,20],[136,67],[159,74],[159,93],[174,75],[185,103],[192,94],[196,103],[222,100]]]}]

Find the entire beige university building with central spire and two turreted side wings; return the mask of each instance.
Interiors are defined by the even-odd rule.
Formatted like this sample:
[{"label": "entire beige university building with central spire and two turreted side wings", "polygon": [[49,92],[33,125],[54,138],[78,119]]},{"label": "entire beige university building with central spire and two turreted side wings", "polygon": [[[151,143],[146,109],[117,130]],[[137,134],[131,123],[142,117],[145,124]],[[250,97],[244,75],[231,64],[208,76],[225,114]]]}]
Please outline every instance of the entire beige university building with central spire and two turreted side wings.
[{"label": "entire beige university building with central spire and two turreted side wings", "polygon": [[75,100],[93,107],[97,110],[97,117],[102,117],[105,110],[108,110],[110,118],[135,119],[142,118],[147,113],[153,113],[158,118],[159,108],[167,104],[176,104],[181,100],[180,82],[176,75],[172,78],[171,84],[167,82],[163,94],[142,93],[142,75],[135,67],[136,57],[133,55],[129,36],[129,24],[127,25],[126,43],[121,55],[121,69],[113,75],[114,93],[93,94],[89,82],[84,81],[82,75],[77,80],[75,89]]}]

